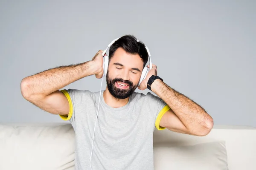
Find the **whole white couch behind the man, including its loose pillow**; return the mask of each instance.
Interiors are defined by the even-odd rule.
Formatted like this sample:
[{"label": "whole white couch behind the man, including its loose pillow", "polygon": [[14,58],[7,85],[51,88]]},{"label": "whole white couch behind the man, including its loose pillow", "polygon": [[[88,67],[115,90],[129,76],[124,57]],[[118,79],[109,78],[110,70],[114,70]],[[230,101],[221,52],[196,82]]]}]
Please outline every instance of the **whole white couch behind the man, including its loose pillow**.
[{"label": "whole white couch behind the man, including its loose pillow", "polygon": [[[2,123],[0,170],[74,170],[74,137],[67,123]],[[154,131],[155,170],[256,170],[255,161],[255,127],[215,125],[203,137]]]}]

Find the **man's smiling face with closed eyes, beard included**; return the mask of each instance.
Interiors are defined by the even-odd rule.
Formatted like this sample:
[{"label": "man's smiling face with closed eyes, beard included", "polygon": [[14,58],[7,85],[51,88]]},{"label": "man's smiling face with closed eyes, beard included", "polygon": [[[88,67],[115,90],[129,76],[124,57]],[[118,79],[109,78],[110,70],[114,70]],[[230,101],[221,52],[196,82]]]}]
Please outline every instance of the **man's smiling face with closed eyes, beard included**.
[{"label": "man's smiling face with closed eyes, beard included", "polygon": [[143,60],[139,54],[129,54],[118,48],[108,65],[108,91],[117,99],[125,99],[135,91],[143,70]]}]

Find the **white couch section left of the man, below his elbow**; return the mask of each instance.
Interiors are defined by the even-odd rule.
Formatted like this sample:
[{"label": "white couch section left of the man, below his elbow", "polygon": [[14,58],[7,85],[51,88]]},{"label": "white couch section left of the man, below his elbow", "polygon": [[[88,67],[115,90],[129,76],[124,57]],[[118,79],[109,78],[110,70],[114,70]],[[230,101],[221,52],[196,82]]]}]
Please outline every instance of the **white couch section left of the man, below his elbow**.
[{"label": "white couch section left of the man, below his elbow", "polygon": [[0,125],[0,170],[74,170],[71,125]]}]

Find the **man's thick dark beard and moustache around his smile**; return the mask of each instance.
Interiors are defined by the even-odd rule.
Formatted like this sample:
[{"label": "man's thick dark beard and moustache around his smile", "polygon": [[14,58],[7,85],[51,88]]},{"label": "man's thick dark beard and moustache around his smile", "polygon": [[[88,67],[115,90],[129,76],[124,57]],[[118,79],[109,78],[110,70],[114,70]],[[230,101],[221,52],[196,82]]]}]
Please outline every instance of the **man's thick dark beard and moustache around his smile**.
[{"label": "man's thick dark beard and moustache around his smile", "polygon": [[[136,90],[138,86],[138,84],[133,85],[133,83],[129,80],[123,80],[121,78],[111,79],[108,76],[108,72],[106,75],[106,79],[107,79],[108,91],[116,99],[126,99],[127,97],[131,96],[131,94],[133,94],[133,92]],[[116,82],[122,82],[122,83],[128,84],[129,88],[128,89],[117,88],[115,85]]]}]

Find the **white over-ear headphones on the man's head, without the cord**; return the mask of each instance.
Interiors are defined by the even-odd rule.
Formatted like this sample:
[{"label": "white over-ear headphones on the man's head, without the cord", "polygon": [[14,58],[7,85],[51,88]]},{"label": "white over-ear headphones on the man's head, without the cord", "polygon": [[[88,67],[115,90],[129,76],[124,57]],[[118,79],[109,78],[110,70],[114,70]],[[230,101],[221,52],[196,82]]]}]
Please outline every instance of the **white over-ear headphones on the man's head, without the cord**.
[{"label": "white over-ear headphones on the man's head, without the cord", "polygon": [[[119,37],[120,38],[120,37]],[[116,38],[115,40],[113,40],[109,45],[108,47],[105,49],[105,51],[103,51],[102,53],[102,56],[103,56],[103,77],[105,77],[107,75],[107,71],[108,71],[108,56],[105,56],[104,55],[106,54],[108,48],[110,48],[110,46],[116,42],[116,40],[118,40],[119,38]],[[137,40],[137,42],[139,42],[139,40]],[[145,67],[143,68],[143,71],[142,71],[142,74],[141,74],[141,77],[140,77],[140,82],[139,82],[139,85],[140,83],[143,81],[143,79],[146,78],[147,74],[148,74],[148,71],[151,70],[152,68],[152,62],[151,62],[151,58],[150,58],[150,52],[148,50],[148,47],[145,45],[145,48],[148,52],[148,59],[149,59],[149,69],[147,67],[147,65],[145,65]]]}]

